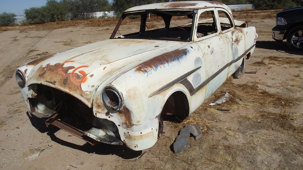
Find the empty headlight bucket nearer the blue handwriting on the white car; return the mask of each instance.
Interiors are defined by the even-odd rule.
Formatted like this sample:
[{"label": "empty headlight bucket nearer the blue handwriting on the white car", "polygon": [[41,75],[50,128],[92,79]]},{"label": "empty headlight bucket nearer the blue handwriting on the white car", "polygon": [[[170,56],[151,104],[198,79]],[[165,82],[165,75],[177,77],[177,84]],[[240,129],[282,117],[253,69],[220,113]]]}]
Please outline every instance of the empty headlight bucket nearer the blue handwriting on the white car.
[{"label": "empty headlight bucket nearer the blue handwriting on the white car", "polygon": [[106,86],[102,90],[102,101],[107,110],[111,109],[118,111],[123,106],[123,100],[120,93],[112,86]]}]

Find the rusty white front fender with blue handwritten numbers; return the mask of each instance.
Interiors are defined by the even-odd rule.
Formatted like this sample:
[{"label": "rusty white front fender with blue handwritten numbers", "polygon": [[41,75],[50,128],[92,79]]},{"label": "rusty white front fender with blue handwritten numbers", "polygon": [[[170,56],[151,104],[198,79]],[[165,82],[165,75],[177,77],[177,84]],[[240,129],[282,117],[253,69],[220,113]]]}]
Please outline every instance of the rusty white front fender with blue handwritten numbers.
[{"label": "rusty white front fender with blue handwritten numbers", "polygon": [[[173,51],[164,51],[118,77],[111,78],[111,83],[100,85],[94,97],[94,115],[114,122],[121,140],[128,147],[142,150],[154,145],[158,136],[160,114],[168,97],[176,91],[190,96],[188,89],[181,83],[167,85],[195,67],[194,61],[198,53],[194,49],[198,48],[194,47],[195,44],[191,44]],[[106,116],[108,110],[103,104],[101,94],[107,86],[114,87],[120,93],[123,106]],[[152,95],[165,86],[165,90]]]}]

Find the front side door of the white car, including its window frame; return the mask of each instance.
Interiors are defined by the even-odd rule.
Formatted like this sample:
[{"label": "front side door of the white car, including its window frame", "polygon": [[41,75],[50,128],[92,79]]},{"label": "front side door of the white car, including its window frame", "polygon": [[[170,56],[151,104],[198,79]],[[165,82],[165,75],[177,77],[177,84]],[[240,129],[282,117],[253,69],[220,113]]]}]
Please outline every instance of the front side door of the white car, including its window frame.
[{"label": "front side door of the white car, including its window frame", "polygon": [[198,12],[194,42],[199,45],[205,62],[205,98],[225,82],[228,75],[228,48],[220,34],[216,9],[208,8]]}]

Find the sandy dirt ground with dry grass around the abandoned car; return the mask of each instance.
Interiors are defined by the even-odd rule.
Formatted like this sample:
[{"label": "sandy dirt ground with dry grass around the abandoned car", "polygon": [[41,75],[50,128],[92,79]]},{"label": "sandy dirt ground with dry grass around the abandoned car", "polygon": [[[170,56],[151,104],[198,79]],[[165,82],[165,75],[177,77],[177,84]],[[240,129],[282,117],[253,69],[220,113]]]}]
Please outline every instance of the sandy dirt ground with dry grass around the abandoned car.
[{"label": "sandy dirt ground with dry grass around the abandoned car", "polygon": [[[0,169],[302,169],[303,54],[271,38],[275,18],[247,19],[258,33],[240,79],[229,79],[182,123],[165,122],[151,148],[91,146],[45,119],[29,117],[14,71],[35,58],[109,38],[113,27],[15,28],[0,32]],[[248,74],[256,71],[255,74]],[[226,92],[233,97],[208,106]],[[218,111],[218,108],[229,111]],[[178,131],[197,123],[203,134],[171,151]]]}]

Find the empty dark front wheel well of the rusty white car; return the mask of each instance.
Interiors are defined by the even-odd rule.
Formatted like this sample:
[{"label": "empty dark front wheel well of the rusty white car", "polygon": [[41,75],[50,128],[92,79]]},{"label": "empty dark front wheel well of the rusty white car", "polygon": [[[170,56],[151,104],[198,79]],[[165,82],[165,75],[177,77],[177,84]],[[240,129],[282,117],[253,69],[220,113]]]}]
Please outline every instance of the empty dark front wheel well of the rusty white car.
[{"label": "empty dark front wheel well of the rusty white car", "polygon": [[[189,114],[189,103],[185,93],[176,91],[166,100],[161,116],[164,120],[181,122]],[[174,120],[176,118],[176,120]],[[178,121],[179,120],[179,121]]]}]

